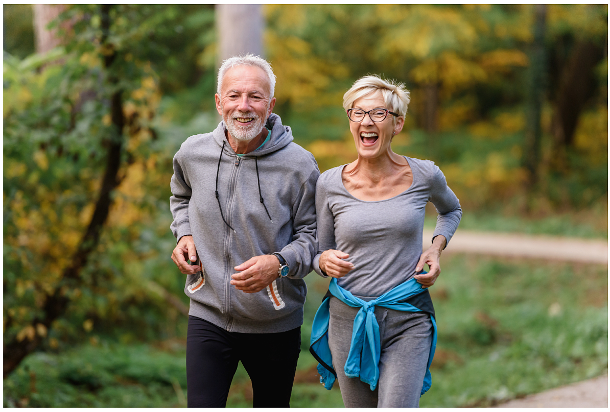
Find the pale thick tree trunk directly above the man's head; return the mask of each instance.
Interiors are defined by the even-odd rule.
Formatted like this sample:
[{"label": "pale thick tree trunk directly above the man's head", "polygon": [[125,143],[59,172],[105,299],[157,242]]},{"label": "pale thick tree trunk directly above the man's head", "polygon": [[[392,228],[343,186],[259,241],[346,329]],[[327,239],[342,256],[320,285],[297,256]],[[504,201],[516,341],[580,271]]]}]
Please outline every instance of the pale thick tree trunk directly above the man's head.
[{"label": "pale thick tree trunk directly above the man's head", "polygon": [[263,57],[260,4],[217,4],[216,25],[220,61],[243,53]]}]

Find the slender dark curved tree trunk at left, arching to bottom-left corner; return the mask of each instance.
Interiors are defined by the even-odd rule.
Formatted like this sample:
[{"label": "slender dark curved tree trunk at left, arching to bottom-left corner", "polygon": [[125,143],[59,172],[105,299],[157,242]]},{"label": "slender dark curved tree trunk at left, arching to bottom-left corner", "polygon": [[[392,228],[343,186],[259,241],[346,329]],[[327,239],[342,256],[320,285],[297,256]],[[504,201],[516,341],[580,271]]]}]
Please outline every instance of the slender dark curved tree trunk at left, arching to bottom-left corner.
[{"label": "slender dark curved tree trunk at left, arching to bottom-left corner", "polygon": [[[102,25],[102,38],[101,43],[107,46],[107,50],[110,50],[110,54],[104,57],[104,68],[109,69],[113,61],[117,57],[117,53],[113,48],[112,44],[107,43],[109,28],[110,28],[110,7],[111,5],[104,4],[101,6],[101,25]],[[110,83],[117,84],[118,79],[116,76],[109,76]],[[102,185],[99,190],[98,201],[93,211],[93,216],[84,235],[82,236],[81,243],[72,257],[72,263],[68,268],[63,271],[62,280],[55,289],[54,293],[46,297],[45,304],[43,305],[44,315],[43,318],[37,318],[32,321],[32,327],[36,328],[38,324],[42,324],[46,329],[50,329],[51,324],[56,319],[63,316],[70,301],[65,296],[68,288],[74,286],[74,283],[79,282],[82,269],[87,264],[87,259],[91,252],[98,245],[99,235],[101,234],[102,226],[108,218],[110,211],[110,205],[112,204],[112,198],[110,194],[120,183],[118,179],[118,169],[121,162],[121,148],[123,146],[123,127],[125,125],[125,119],[123,116],[123,104],[121,97],[121,90],[116,91],[110,98],[110,118],[112,124],[115,126],[115,135],[109,137],[108,141],[108,155],[106,159],[106,171],[102,179]],[[34,352],[42,343],[43,337],[38,333],[34,339],[29,340],[28,338],[23,341],[18,341],[15,338],[9,343],[4,345],[4,377],[10,374],[21,361],[30,353]]]}]

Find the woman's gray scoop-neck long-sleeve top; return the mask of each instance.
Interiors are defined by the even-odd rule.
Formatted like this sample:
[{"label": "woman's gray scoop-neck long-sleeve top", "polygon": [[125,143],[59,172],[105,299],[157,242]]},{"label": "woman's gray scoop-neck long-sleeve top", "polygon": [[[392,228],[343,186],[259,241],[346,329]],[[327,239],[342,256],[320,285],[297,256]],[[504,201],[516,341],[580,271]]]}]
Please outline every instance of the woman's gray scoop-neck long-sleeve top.
[{"label": "woman's gray scoop-neck long-sleeve top", "polygon": [[343,185],[346,165],[321,174],[316,185],[318,254],[314,269],[322,275],[320,255],[328,249],[349,254],[354,265],[337,284],[359,297],[379,297],[414,277],[422,255],[426,203],[439,213],[434,236],[447,243],[462,218],[459,199],[447,186],[439,167],[430,160],[405,157],[413,172],[413,183],[399,194],[382,201],[361,201]]}]

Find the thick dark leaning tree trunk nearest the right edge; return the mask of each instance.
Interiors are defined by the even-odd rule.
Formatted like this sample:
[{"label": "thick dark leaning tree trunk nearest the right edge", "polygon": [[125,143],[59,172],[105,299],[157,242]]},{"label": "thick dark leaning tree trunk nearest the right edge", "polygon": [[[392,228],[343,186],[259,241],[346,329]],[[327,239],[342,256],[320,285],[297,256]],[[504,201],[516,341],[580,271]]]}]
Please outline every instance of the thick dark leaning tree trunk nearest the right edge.
[{"label": "thick dark leaning tree trunk nearest the right edge", "polygon": [[567,169],[567,149],[573,144],[578,119],[584,106],[595,93],[594,69],[603,57],[604,51],[597,44],[580,40],[576,42],[569,62],[562,70],[551,121],[551,167],[557,171]]}]

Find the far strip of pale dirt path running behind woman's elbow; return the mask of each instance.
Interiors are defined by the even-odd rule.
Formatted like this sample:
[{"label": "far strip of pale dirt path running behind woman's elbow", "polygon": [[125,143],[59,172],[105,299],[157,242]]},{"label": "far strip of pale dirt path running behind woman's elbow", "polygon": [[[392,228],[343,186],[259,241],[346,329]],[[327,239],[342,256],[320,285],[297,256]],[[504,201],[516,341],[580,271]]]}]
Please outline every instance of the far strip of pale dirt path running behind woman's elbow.
[{"label": "far strip of pale dirt path running behind woman's elbow", "polygon": [[[424,244],[432,231],[424,230]],[[445,252],[476,253],[608,265],[608,241],[458,229]]]}]

